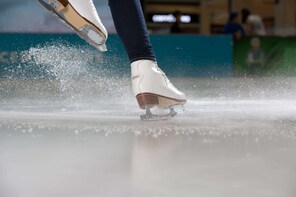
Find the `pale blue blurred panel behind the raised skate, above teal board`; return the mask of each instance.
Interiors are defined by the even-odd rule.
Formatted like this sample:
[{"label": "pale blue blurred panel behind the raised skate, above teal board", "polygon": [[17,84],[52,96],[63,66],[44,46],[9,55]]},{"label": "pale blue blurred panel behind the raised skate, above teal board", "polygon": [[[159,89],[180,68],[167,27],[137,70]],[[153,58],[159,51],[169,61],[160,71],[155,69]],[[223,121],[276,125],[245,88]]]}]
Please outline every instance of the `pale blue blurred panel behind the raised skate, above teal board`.
[{"label": "pale blue blurred panel behind the raised skate, above teal board", "polygon": [[[106,28],[114,32],[107,0],[94,1]],[[55,32],[71,30],[53,17],[37,0],[0,0],[0,32]]]}]

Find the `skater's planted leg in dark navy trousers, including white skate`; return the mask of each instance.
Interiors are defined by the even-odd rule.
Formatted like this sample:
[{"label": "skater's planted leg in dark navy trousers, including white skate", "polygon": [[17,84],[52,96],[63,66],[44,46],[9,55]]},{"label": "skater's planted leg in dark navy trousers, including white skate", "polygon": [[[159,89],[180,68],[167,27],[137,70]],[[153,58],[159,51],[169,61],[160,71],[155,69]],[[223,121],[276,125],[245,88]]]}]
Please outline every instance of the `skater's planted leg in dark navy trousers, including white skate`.
[{"label": "skater's planted leg in dark navy trousers, including white skate", "polygon": [[[131,62],[132,85],[143,119],[150,119],[150,108],[172,108],[186,103],[185,95],[157,66],[139,0],[109,0],[114,24]],[[171,109],[167,117],[176,115]],[[148,118],[147,118],[148,117]],[[163,118],[156,116],[156,118]]]}]

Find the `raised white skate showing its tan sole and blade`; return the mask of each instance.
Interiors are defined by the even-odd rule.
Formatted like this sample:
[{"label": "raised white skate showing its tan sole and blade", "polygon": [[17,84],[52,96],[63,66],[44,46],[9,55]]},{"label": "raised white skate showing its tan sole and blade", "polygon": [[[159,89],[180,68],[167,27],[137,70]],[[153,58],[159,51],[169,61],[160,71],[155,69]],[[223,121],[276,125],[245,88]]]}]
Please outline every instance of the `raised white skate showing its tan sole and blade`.
[{"label": "raised white skate showing its tan sole and blade", "polygon": [[82,39],[100,51],[107,51],[108,33],[92,0],[38,0],[71,27]]}]

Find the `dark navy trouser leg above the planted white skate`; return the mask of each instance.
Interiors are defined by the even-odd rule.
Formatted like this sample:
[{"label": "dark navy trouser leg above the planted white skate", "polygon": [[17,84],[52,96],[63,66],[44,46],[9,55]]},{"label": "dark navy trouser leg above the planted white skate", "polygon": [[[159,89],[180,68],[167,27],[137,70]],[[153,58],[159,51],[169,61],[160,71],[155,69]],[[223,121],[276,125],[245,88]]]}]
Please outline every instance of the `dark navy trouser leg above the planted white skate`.
[{"label": "dark navy trouser leg above the planted white skate", "polygon": [[109,0],[109,6],[130,62],[140,59],[155,61],[140,0]]}]

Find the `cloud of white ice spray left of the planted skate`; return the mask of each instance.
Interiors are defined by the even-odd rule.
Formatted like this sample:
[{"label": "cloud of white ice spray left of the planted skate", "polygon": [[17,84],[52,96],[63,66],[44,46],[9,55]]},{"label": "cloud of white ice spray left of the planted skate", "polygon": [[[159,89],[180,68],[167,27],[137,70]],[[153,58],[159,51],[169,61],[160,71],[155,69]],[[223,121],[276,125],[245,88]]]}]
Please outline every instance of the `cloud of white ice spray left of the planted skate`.
[{"label": "cloud of white ice spray left of the planted skate", "polygon": [[[116,57],[112,56],[112,60],[106,58],[90,46],[54,42],[31,47],[20,55],[21,68],[11,65],[13,69],[8,78],[22,81],[18,87],[22,87],[23,97],[26,94],[28,97],[32,88],[40,83],[43,90],[38,94],[51,96],[47,90],[53,92],[52,89],[56,88],[55,96],[72,104],[92,103],[98,97],[108,102],[122,101],[132,96],[130,79],[116,73],[119,62]],[[25,85],[21,79],[26,79],[26,83],[30,81],[30,84]]]}]

